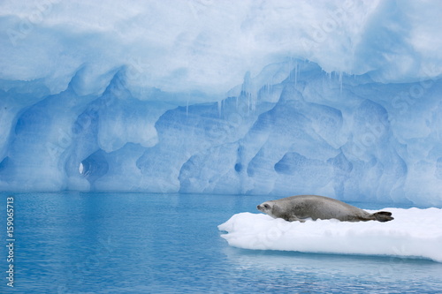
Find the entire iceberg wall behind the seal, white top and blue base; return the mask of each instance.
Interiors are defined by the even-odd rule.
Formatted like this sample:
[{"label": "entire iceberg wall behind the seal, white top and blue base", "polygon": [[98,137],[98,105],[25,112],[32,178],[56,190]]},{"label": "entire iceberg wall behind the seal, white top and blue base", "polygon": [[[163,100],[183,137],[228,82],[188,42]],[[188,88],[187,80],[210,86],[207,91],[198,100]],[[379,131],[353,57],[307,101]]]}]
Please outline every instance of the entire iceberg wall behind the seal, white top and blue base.
[{"label": "entire iceberg wall behind the seal, white top and blue base", "polygon": [[442,205],[438,2],[0,4],[0,190]]}]

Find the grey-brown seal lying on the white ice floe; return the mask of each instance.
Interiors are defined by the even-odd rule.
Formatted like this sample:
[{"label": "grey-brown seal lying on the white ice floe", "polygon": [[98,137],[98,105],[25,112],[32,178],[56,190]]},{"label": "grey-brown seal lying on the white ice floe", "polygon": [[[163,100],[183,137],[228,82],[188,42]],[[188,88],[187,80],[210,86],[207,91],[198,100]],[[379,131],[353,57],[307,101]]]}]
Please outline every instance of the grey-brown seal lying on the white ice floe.
[{"label": "grey-brown seal lying on the white ice floe", "polygon": [[283,218],[288,222],[305,222],[338,219],[341,222],[392,221],[391,212],[379,211],[374,214],[351,206],[339,200],[316,195],[298,195],[270,200],[257,206],[258,210],[273,218]]}]

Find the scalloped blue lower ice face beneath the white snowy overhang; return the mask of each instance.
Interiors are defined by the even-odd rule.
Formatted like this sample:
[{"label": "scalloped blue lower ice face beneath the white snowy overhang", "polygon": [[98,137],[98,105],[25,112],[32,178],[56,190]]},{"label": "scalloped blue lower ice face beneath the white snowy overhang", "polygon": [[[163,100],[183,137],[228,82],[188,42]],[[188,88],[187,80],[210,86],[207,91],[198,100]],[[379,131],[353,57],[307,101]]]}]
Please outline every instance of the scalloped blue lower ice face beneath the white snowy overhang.
[{"label": "scalloped blue lower ice face beneath the white snowy overhang", "polygon": [[440,79],[381,84],[288,60],[220,102],[177,106],[134,97],[125,72],[98,96],[75,92],[81,72],[35,102],[4,91],[2,190],[442,200]]}]

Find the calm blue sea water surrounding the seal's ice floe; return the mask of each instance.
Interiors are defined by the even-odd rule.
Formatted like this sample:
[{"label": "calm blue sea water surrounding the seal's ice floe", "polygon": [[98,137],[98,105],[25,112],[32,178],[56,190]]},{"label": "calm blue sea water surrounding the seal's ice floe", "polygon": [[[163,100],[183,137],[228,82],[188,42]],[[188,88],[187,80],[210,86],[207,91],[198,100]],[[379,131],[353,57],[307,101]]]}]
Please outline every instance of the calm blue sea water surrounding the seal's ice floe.
[{"label": "calm blue sea water surrounding the seal's ice floe", "polygon": [[[14,198],[14,288],[6,198]],[[217,225],[269,197],[2,193],[2,293],[440,293],[442,263],[248,251]],[[368,207],[365,208],[382,208]]]}]

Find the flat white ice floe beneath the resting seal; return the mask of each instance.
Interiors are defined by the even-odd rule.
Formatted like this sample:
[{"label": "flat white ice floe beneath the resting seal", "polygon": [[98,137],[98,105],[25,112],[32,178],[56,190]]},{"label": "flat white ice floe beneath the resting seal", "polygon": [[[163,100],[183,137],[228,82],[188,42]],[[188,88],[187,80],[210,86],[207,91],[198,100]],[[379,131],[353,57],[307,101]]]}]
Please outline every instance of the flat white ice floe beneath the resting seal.
[{"label": "flat white ice floe beneath the resting seal", "polygon": [[227,232],[221,237],[229,245],[244,249],[388,255],[442,262],[442,209],[380,210],[392,212],[394,220],[286,222],[269,215],[240,213],[218,229]]}]

